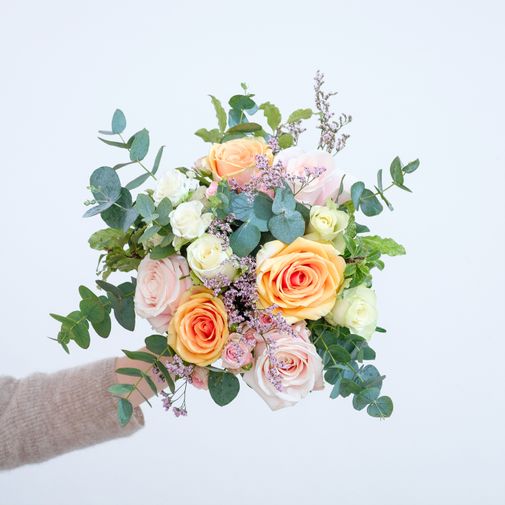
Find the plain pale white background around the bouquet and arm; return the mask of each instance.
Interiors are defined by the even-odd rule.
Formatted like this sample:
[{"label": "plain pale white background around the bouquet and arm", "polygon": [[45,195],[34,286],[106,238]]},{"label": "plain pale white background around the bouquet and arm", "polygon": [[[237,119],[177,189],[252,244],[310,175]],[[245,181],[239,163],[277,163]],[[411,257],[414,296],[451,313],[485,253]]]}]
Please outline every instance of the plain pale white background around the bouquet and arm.
[{"label": "plain pale white background around the bouquet and arm", "polygon": [[223,409],[192,391],[187,419],[156,404],[129,439],[2,473],[2,504],[505,502],[500,1],[1,4],[1,373],[112,356],[148,332],[116,327],[70,356],[47,339],[48,312],[95,279],[101,223],[82,202],[91,171],[123,160],[96,140],[116,107],[166,144],[163,167],[189,165],[206,151],[193,132],[215,122],[208,93],[246,81],[289,113],[311,105],[320,68],[354,117],[339,166],[373,184],[397,154],[422,162],[414,194],[372,222],[408,250],[375,283],[390,420],[328,391],[277,413],[245,387]]}]

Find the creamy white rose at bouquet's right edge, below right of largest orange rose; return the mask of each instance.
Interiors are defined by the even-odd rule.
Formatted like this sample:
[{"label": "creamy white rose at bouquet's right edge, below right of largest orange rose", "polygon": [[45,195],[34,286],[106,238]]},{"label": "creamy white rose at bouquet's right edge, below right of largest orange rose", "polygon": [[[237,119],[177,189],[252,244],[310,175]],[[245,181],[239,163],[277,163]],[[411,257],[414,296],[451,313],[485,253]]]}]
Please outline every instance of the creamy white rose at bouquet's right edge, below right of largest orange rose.
[{"label": "creamy white rose at bouquet's right edge, below right of largest orange rose", "polygon": [[346,289],[325,319],[369,340],[377,326],[377,297],[364,285]]}]

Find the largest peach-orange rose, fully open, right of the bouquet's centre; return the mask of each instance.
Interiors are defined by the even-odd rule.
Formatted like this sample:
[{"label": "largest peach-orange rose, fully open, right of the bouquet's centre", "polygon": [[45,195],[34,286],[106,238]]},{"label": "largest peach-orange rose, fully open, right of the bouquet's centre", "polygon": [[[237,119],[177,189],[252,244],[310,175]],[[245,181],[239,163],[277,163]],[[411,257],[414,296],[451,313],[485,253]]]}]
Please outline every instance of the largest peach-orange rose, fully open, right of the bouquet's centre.
[{"label": "largest peach-orange rose, fully open, right of the bouquet's centre", "polygon": [[267,242],[256,262],[260,305],[276,305],[289,323],[328,314],[344,282],[345,261],[335,248],[303,237]]}]

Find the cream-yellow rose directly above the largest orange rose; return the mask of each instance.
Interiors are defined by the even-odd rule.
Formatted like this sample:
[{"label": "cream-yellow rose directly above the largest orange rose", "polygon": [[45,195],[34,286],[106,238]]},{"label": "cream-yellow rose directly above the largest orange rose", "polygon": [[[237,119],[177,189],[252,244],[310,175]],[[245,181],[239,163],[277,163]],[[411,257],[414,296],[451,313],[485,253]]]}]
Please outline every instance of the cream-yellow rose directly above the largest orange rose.
[{"label": "cream-yellow rose directly above the largest orange rose", "polygon": [[344,254],[344,231],[349,224],[349,214],[336,208],[314,205],[310,209],[310,221],[306,238],[332,242],[339,254]]}]

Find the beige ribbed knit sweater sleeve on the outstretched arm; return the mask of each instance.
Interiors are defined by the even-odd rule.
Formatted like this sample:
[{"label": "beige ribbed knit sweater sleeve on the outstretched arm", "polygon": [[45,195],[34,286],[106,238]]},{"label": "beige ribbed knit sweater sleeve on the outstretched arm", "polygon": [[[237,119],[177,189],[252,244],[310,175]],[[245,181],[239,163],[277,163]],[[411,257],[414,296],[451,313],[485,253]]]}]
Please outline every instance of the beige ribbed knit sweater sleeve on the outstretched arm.
[{"label": "beige ribbed knit sweater sleeve on the outstretched arm", "polygon": [[144,425],[140,408],[122,428],[107,388],[115,360],[104,359],[25,379],[0,376],[0,470],[131,435]]}]

